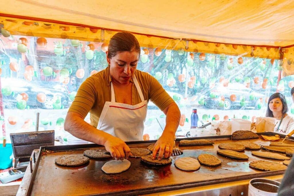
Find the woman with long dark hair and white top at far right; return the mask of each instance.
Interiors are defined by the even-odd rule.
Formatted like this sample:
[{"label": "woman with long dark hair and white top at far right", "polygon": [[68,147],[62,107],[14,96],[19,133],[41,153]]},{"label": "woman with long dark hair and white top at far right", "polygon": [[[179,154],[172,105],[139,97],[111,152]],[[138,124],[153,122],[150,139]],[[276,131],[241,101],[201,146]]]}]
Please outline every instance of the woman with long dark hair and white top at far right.
[{"label": "woman with long dark hair and white top at far right", "polygon": [[275,132],[287,135],[294,129],[294,119],[287,114],[288,106],[285,96],[281,93],[274,93],[268,99],[266,117],[276,119]]}]

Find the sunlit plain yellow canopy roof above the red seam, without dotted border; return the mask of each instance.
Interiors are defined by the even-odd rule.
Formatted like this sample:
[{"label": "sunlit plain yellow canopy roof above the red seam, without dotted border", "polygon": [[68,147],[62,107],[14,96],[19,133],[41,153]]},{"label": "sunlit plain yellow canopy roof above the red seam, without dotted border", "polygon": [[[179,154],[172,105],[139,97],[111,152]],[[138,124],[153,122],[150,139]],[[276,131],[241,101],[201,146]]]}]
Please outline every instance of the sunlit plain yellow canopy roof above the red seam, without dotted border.
[{"label": "sunlit plain yellow canopy roof above the red seam, without dotted border", "polygon": [[0,12],[178,39],[245,45],[294,44],[294,2],[0,1]]}]

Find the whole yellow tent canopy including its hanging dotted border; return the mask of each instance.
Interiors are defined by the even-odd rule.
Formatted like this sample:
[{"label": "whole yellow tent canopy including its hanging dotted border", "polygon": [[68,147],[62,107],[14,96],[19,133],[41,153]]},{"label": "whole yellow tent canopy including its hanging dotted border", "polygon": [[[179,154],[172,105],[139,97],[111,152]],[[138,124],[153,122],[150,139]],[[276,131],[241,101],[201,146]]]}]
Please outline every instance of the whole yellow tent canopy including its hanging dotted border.
[{"label": "whole yellow tent canopy including its hanging dotted border", "polygon": [[117,31],[140,45],[283,59],[294,73],[294,3],[272,1],[0,1],[0,25],[13,35],[108,43]]}]

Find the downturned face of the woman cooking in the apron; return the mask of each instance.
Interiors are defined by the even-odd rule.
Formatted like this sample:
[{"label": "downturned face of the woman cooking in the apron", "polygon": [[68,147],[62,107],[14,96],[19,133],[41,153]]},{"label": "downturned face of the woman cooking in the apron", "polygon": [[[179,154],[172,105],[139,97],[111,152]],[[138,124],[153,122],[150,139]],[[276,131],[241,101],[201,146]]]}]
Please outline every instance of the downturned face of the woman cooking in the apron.
[{"label": "downturned face of the woman cooking in the apron", "polygon": [[[108,52],[106,52],[106,56]],[[139,53],[136,51],[122,51],[113,56],[107,57],[110,64],[111,78],[121,84],[129,84],[137,68]]]}]

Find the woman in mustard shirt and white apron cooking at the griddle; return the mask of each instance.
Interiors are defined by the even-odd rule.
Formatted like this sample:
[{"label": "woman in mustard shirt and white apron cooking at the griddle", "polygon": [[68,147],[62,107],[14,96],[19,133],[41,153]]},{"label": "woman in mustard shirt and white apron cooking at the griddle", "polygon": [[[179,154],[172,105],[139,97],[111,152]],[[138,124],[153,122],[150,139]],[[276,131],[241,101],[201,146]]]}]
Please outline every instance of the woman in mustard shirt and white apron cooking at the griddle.
[{"label": "woman in mustard shirt and white apron cooking at the griddle", "polygon": [[[66,115],[64,130],[77,138],[104,145],[116,160],[130,155],[124,141],[143,138],[147,103],[151,100],[166,115],[153,159],[171,156],[180,110],[161,84],[149,73],[136,70],[140,45],[131,33],[116,33],[109,42],[108,67],[87,78]],[[90,112],[91,125],[84,121]]]}]

